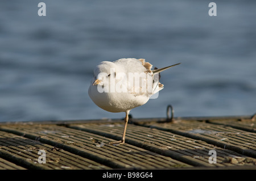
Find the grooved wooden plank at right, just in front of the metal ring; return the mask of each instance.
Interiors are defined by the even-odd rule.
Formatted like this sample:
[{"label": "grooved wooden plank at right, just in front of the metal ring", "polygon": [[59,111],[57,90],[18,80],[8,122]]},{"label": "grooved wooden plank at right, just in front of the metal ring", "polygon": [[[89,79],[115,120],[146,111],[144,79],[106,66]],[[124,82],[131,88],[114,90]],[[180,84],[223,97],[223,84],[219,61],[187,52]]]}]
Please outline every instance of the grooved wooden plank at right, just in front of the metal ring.
[{"label": "grooved wooden plank at right, just in front of the metal ring", "polygon": [[140,125],[203,140],[209,144],[256,158],[256,133],[202,121],[179,120],[175,123],[145,123]]}]

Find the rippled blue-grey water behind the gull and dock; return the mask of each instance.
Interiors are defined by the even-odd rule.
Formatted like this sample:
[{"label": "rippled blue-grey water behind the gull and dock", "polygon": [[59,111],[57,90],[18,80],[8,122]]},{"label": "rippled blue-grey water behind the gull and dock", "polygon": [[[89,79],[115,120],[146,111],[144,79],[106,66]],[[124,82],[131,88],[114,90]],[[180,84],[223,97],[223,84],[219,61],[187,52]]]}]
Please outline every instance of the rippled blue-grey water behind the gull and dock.
[{"label": "rippled blue-grey water behind the gull and dock", "polygon": [[146,58],[161,68],[158,99],[133,117],[256,112],[256,2],[0,2],[0,121],[122,118],[88,96],[94,66]]}]

